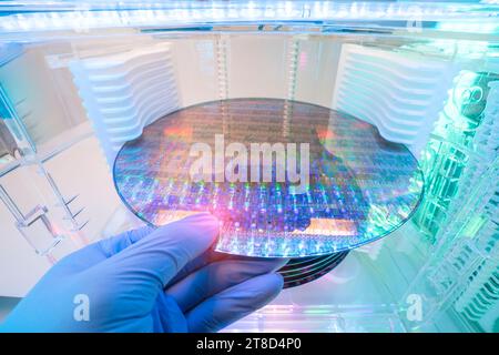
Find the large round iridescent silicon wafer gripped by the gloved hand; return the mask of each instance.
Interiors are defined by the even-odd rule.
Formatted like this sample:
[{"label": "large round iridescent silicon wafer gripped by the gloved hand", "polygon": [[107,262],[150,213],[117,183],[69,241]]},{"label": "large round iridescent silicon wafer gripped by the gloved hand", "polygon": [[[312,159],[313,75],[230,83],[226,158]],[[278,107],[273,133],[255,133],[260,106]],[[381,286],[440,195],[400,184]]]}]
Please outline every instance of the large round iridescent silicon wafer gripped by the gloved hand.
[{"label": "large round iridescent silicon wafer gripped by the gloved hand", "polygon": [[[248,151],[252,143],[308,143],[306,189],[296,193],[296,180],[287,176],[195,182],[191,168],[198,156],[191,148],[205,143],[215,152],[221,134],[225,146],[237,142]],[[247,161],[249,176],[255,166]],[[274,178],[276,161],[265,165],[262,159],[258,166]],[[407,221],[424,186],[407,148],[384,140],[373,125],[277,99],[214,101],[173,112],[122,148],[114,180],[123,202],[147,223],[210,211],[221,221],[217,251],[264,257],[326,255],[377,240]]]}]

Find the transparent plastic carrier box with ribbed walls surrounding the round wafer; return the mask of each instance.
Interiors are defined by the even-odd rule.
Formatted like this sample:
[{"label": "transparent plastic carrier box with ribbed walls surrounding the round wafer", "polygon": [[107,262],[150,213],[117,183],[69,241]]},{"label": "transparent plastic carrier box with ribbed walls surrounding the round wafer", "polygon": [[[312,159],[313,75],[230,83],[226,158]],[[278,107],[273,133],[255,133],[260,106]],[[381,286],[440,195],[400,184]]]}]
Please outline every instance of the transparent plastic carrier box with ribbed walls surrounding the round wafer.
[{"label": "transparent plastic carrier box with ribbed walls surrounding the round wafer", "polygon": [[[346,112],[405,144],[425,196],[403,227],[226,331],[498,332],[498,11],[1,2],[0,295],[23,296],[63,255],[143,223],[118,196],[112,163],[144,126],[201,102],[275,98]],[[109,63],[113,85],[89,80]]]}]

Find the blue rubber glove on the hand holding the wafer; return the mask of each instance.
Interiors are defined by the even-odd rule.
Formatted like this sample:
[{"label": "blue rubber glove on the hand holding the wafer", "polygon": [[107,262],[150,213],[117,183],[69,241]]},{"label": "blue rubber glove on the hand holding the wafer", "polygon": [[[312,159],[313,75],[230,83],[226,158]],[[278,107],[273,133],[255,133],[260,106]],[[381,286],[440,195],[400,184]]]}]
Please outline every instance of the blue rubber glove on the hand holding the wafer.
[{"label": "blue rubber glove on the hand holding the wafer", "polygon": [[[286,263],[214,253],[217,232],[203,213],[89,245],[55,264],[1,329],[216,332],[273,300]],[[89,321],[74,316],[82,300]]]}]

